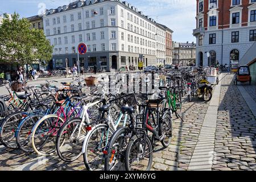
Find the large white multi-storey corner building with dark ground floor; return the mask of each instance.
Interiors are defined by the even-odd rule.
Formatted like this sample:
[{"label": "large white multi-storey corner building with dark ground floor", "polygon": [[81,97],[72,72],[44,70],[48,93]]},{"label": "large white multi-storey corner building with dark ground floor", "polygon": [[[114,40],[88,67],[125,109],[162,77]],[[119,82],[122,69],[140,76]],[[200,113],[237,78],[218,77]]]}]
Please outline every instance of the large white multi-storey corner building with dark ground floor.
[{"label": "large white multi-storey corner building with dark ground floor", "polygon": [[[51,69],[77,63],[77,46],[84,42],[88,53],[80,55],[85,68],[137,67],[143,54],[144,67],[165,59],[165,30],[154,19],[121,1],[76,1],[46,11],[44,32],[53,44]],[[158,52],[156,45],[158,44]]]}]

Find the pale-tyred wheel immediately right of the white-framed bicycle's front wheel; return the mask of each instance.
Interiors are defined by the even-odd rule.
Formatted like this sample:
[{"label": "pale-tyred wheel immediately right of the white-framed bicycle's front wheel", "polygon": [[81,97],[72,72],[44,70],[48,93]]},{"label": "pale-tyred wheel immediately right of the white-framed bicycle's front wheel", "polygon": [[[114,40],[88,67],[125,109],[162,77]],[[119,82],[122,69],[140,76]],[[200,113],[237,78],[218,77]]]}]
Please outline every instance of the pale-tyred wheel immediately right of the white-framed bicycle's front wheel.
[{"label": "pale-tyred wheel immediately right of the white-framed bicycle's front wheel", "polygon": [[[104,148],[106,147],[105,146],[105,141],[104,140],[100,141],[100,147],[101,147],[100,150],[95,148],[96,149],[95,151],[94,150],[89,150],[90,153],[88,152],[88,146],[89,146],[88,143],[89,143],[91,137],[94,137],[94,138],[98,137],[98,133],[96,133],[96,136],[94,136],[93,134],[95,132],[97,132],[98,130],[100,130],[100,129],[107,129],[107,130],[109,129],[109,133],[111,135],[113,135],[113,133],[114,133],[114,130],[106,124],[97,125],[97,126],[93,127],[93,129],[91,131],[89,131],[89,133],[87,134],[87,136],[84,140],[84,144],[83,144],[83,147],[82,147],[83,156],[84,156],[84,164],[85,164],[86,169],[88,169],[88,171],[96,171],[98,169],[100,169],[100,170],[104,169],[104,166],[102,165],[102,163],[105,162],[105,159],[102,158],[103,151],[101,151],[101,150],[104,150]],[[105,135],[105,132],[106,131],[103,130],[102,134]],[[103,138],[103,137],[106,137],[106,136],[102,135],[101,138]],[[94,139],[94,138],[92,138],[94,143],[98,144],[96,142],[96,139]],[[111,138],[111,136],[109,136],[109,138]],[[90,155],[92,155],[92,158],[89,157]],[[96,164],[97,164],[97,165],[95,165],[96,167],[93,167],[94,161],[96,161]]]}]

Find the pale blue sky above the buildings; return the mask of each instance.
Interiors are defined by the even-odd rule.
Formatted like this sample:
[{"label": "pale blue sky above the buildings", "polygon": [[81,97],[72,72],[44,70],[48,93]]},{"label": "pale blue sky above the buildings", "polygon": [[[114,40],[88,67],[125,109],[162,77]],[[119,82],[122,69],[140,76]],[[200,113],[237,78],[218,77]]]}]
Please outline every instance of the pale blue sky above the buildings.
[{"label": "pale blue sky above the buildings", "polygon": [[[71,0],[0,0],[0,14],[17,12],[21,17],[37,15],[46,9],[68,5]],[[123,0],[125,1],[125,0]],[[175,42],[195,42],[196,0],[126,0],[132,6],[174,31]]]}]

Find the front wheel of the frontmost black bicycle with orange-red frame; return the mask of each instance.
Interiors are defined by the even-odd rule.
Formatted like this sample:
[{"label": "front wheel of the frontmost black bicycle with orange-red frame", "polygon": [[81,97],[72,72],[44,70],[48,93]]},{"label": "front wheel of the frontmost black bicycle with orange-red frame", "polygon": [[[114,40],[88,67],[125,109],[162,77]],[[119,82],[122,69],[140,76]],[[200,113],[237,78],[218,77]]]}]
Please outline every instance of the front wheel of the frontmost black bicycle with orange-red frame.
[{"label": "front wheel of the frontmost black bicycle with orange-red frame", "polygon": [[[128,143],[128,145],[127,145],[127,148],[126,148],[126,152],[125,152],[125,168],[126,168],[126,171],[133,171],[132,169],[131,169],[131,167],[130,167],[130,154],[131,154],[131,149],[132,149],[132,147],[134,146],[134,144],[135,144],[135,147],[136,147],[136,142],[139,142],[138,141],[138,139],[143,139],[144,137],[142,136],[142,137],[137,137],[137,135],[134,135],[131,139],[130,139],[130,141],[129,141],[129,143]],[[142,142],[139,142],[139,143],[143,143],[144,141],[142,141]],[[152,166],[152,158],[153,158],[153,154],[152,154],[152,151],[153,151],[153,146],[152,146],[152,143],[151,143],[151,140],[150,140],[150,138],[148,137],[148,135],[146,135],[146,145],[148,146],[148,152],[147,152],[147,155],[148,155],[148,162],[145,162],[145,160],[143,160],[143,163],[147,163],[147,166],[146,166],[146,168],[144,167],[144,168],[142,168],[142,169],[139,169],[139,167],[141,167],[141,166],[144,166],[144,165],[142,165],[142,164],[139,164],[139,165],[137,165],[137,167],[135,167],[135,170],[136,171],[150,171],[150,169],[151,169],[151,166]],[[142,144],[139,144],[139,148],[140,148],[140,150],[142,150]],[[146,147],[143,147],[143,148],[146,148]],[[137,148],[137,151],[135,150],[135,158],[136,158],[136,160],[131,160],[131,162],[135,162],[135,161],[137,161],[138,162],[138,154],[136,153],[136,152],[138,152],[138,148]],[[146,155],[143,155],[143,159],[145,158],[145,156]]]}]

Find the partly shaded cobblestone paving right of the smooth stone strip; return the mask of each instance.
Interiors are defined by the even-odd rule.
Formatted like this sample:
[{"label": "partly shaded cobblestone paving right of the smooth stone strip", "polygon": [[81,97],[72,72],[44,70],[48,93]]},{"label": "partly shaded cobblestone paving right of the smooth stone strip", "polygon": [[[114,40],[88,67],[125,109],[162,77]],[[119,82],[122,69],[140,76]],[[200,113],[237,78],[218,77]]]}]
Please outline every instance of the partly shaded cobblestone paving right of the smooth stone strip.
[{"label": "partly shaded cobblestone paving right of the smooth stone strip", "polygon": [[[213,170],[256,170],[256,122],[254,115],[232,84],[233,75],[222,81]],[[255,98],[255,86],[245,86]]]}]

